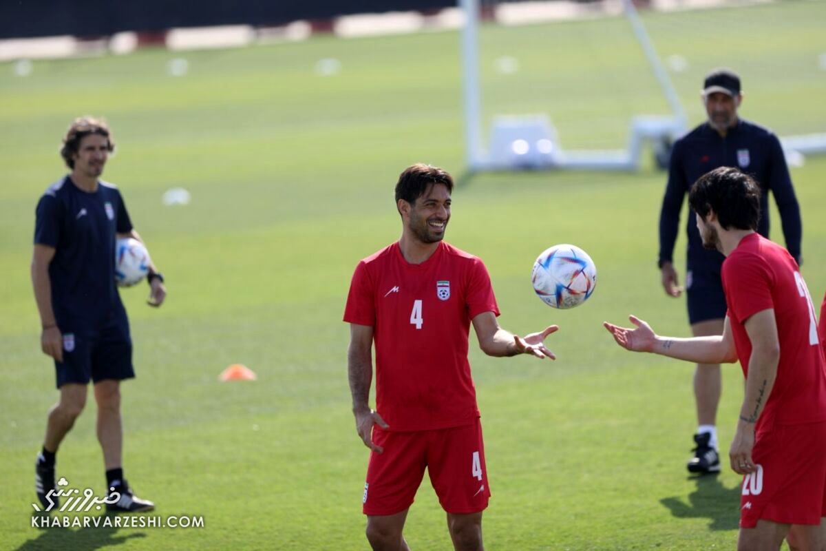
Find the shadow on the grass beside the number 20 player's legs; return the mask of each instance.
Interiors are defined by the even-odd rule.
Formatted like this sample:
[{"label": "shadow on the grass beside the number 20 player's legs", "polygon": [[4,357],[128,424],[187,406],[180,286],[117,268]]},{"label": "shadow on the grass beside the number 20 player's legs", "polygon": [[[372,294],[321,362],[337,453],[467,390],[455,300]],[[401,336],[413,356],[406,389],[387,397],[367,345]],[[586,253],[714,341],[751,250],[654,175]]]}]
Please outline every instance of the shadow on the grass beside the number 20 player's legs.
[{"label": "shadow on the grass beside the number 20 player's legs", "polygon": [[664,497],[660,503],[678,519],[707,518],[711,521],[711,530],[738,530],[740,487],[724,487],[719,477],[713,475],[691,480],[697,487],[688,495],[688,503],[678,497]]}]

